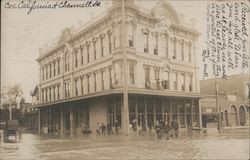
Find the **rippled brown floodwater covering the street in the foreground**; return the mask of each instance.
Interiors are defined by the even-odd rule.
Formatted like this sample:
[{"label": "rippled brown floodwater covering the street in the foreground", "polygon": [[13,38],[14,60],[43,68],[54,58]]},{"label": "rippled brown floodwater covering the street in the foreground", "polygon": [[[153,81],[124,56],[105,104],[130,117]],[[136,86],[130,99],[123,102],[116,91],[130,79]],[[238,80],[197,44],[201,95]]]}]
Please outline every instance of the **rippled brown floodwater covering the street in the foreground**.
[{"label": "rippled brown floodwater covering the street in the foreground", "polygon": [[181,130],[178,138],[155,134],[48,137],[23,134],[20,143],[0,142],[1,160],[249,159],[249,129]]}]

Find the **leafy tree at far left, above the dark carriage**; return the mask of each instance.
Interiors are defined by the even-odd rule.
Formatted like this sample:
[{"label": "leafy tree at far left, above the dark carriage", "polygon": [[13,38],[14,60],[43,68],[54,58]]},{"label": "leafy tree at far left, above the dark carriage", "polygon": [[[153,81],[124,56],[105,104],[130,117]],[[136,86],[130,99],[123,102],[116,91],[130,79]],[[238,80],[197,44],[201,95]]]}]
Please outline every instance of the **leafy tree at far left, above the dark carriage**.
[{"label": "leafy tree at far left, above the dark carriage", "polygon": [[1,89],[1,105],[14,106],[17,108],[18,100],[23,96],[22,87],[19,83],[3,87]]}]

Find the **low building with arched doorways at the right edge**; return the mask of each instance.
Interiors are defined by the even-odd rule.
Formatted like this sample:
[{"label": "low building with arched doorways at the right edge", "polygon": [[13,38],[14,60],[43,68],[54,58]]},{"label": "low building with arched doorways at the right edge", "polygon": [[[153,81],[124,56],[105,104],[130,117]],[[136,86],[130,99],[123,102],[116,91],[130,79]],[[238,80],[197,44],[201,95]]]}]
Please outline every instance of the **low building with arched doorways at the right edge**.
[{"label": "low building with arched doorways at the right edge", "polygon": [[[227,127],[249,124],[249,75],[236,74],[228,76],[227,80],[218,78],[216,81],[219,86],[218,102],[222,125]],[[202,80],[200,84],[201,93],[215,94],[215,79]],[[201,100],[201,112],[203,127],[209,127],[209,117],[216,117],[217,115],[215,97]]]}]

